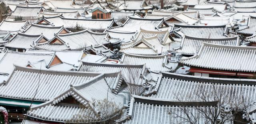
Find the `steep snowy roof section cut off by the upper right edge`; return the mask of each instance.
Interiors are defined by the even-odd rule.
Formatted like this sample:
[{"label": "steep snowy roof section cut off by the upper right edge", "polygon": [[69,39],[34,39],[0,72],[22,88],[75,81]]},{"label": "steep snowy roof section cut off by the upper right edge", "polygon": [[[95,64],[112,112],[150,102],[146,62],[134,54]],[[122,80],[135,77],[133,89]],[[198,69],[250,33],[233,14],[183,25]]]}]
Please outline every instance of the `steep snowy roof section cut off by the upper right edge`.
[{"label": "steep snowy roof section cut off by the upper right edge", "polygon": [[253,35],[256,31],[256,16],[250,16],[247,22],[247,27],[238,30],[238,33]]}]

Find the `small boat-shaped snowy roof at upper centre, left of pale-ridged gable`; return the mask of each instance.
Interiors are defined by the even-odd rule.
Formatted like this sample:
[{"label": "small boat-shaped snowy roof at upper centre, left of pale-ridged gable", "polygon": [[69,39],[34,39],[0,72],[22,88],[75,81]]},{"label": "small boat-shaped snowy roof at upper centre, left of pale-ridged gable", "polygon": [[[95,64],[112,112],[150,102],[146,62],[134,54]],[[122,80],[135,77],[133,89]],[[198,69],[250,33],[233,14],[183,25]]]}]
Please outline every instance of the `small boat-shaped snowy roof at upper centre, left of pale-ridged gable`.
[{"label": "small boat-shaped snowy roof at upper centre, left of pale-ridged gable", "polygon": [[106,30],[108,35],[112,38],[121,39],[122,42],[126,43],[128,41],[131,41],[132,38],[134,38],[134,35],[136,35],[137,32],[123,32],[123,31],[115,31],[115,30]]}]

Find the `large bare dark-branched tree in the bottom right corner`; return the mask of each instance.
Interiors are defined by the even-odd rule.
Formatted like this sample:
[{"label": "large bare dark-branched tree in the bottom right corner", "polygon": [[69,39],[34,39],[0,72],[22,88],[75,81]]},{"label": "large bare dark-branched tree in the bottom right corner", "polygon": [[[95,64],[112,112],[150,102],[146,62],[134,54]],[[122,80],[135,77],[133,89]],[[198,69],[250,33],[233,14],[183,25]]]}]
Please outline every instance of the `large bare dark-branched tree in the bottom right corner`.
[{"label": "large bare dark-branched tree in the bottom right corner", "polygon": [[170,118],[187,124],[248,124],[248,112],[255,102],[243,93],[225,90],[211,84],[208,88],[201,86],[190,96],[176,94],[180,106],[175,112],[169,112]]}]

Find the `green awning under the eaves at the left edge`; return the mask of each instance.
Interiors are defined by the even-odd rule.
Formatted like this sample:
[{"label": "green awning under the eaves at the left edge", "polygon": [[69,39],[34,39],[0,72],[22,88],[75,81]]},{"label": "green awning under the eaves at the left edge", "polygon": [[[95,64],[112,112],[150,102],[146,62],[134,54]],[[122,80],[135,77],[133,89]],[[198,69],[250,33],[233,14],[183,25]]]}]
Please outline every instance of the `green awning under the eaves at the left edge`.
[{"label": "green awning under the eaves at the left edge", "polygon": [[[5,105],[5,106],[18,106],[18,107],[23,107],[23,108],[29,108],[31,102],[32,101],[29,101],[29,100],[19,100],[19,99],[0,97],[0,105]],[[32,103],[32,106],[38,105],[41,103],[44,103],[44,102],[34,101]]]}]

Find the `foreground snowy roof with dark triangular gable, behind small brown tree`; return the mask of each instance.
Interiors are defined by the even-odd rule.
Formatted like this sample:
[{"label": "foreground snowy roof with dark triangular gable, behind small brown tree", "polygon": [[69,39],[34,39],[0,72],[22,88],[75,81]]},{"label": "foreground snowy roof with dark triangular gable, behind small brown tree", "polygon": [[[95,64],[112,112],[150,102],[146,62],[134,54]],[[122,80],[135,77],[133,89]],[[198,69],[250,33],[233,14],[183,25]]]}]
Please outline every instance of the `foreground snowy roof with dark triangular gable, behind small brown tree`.
[{"label": "foreground snowy roof with dark triangular gable, behind small brown tree", "polygon": [[[96,110],[97,103],[99,100],[104,100],[108,97],[109,102],[114,102],[118,107],[122,108],[126,103],[126,97],[128,94],[114,94],[109,89],[112,84],[119,83],[119,76],[114,74],[101,74],[97,77],[86,81],[83,84],[70,86],[69,90],[65,90],[64,93],[51,99],[48,102],[33,106],[32,110],[28,113],[28,116],[38,118],[40,120],[53,121],[53,122],[76,122],[75,116],[87,114],[88,109],[92,109],[92,113],[100,116],[100,109]],[[102,95],[102,94],[108,94]],[[76,103],[66,103],[66,98],[73,98]],[[67,101],[67,100],[66,100]],[[65,112],[64,112],[65,111]],[[52,114],[52,112],[56,114]],[[92,114],[90,113],[90,114]],[[92,118],[84,118],[81,122],[88,122]]]}]

